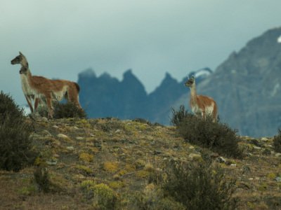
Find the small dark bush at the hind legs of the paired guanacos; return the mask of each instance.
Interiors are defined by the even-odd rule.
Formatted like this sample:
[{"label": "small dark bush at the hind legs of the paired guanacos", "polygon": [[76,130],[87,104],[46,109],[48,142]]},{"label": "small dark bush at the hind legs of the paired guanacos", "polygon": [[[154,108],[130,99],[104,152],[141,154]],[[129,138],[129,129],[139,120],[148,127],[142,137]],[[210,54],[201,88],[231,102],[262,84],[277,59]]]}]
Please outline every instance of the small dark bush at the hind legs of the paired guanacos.
[{"label": "small dark bush at the hind legs of the paired guanacos", "polygon": [[53,118],[86,118],[86,113],[84,109],[78,108],[72,102],[67,102],[66,104],[54,103]]}]

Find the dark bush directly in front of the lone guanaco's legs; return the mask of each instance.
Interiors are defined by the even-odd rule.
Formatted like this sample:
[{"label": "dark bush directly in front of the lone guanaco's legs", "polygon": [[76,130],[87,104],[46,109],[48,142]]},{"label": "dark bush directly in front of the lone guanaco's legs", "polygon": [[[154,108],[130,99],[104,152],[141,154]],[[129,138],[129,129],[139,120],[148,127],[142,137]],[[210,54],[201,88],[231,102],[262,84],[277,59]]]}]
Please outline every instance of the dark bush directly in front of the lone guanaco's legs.
[{"label": "dark bush directly in front of the lone guanaco's legs", "polygon": [[[179,113],[183,113],[183,110],[175,112],[175,116],[180,115]],[[220,155],[242,158],[237,131],[232,130],[227,124],[214,123],[211,117],[203,119],[190,113],[186,113],[184,119],[178,119],[181,119],[176,124],[179,134],[191,144],[209,148]]]}]

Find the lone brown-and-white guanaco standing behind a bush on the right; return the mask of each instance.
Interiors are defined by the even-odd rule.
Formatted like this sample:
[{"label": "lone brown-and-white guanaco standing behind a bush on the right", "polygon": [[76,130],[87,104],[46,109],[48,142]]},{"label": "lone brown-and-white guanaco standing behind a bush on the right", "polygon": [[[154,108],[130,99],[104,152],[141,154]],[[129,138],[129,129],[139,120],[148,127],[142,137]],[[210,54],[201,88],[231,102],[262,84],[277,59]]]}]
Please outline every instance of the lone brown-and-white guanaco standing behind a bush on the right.
[{"label": "lone brown-and-white guanaco standing behind a bush on the right", "polygon": [[192,112],[197,116],[202,116],[204,119],[207,116],[211,116],[213,122],[216,122],[218,112],[216,102],[211,97],[197,95],[193,75],[186,81],[185,86],[190,87],[190,108]]}]

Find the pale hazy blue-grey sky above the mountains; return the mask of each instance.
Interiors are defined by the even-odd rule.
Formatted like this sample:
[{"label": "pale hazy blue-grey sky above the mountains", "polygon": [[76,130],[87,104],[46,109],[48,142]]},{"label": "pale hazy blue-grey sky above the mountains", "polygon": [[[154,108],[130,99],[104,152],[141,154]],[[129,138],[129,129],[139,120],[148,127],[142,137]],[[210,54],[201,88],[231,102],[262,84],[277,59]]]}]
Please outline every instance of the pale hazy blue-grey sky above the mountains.
[{"label": "pale hazy blue-grey sky above the mountains", "polygon": [[0,90],[25,104],[20,50],[33,75],[77,81],[89,67],[122,79],[133,73],[148,92],[166,71],[216,69],[251,38],[281,26],[280,0],[1,0]]}]

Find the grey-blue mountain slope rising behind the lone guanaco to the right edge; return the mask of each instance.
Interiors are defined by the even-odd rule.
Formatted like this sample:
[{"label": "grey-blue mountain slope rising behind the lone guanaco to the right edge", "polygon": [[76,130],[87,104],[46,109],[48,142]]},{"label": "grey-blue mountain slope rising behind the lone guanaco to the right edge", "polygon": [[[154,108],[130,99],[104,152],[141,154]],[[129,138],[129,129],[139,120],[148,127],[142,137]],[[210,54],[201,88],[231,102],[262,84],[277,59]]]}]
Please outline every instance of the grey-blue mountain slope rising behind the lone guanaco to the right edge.
[{"label": "grey-blue mountain slope rising behind the lone guanaco to the right edge", "polygon": [[221,121],[242,135],[273,136],[281,127],[280,35],[281,28],[275,28],[252,39],[197,85],[198,94],[216,100]]}]

